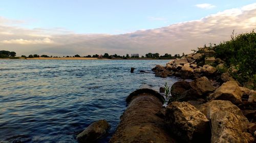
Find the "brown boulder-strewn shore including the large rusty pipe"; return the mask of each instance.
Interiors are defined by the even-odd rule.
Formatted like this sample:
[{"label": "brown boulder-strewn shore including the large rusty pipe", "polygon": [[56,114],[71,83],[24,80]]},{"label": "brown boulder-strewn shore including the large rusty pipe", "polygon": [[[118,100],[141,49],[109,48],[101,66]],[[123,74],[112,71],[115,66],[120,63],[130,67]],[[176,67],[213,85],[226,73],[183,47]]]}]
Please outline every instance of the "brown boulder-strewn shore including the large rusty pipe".
[{"label": "brown boulder-strewn shore including the large rusty pipe", "polygon": [[[110,142],[256,142],[256,92],[220,72],[225,62],[213,55],[206,49],[153,68],[156,76],[191,81],[172,85],[166,107],[163,88],[158,93],[144,85],[131,93]],[[93,126],[97,137],[109,127]]]}]

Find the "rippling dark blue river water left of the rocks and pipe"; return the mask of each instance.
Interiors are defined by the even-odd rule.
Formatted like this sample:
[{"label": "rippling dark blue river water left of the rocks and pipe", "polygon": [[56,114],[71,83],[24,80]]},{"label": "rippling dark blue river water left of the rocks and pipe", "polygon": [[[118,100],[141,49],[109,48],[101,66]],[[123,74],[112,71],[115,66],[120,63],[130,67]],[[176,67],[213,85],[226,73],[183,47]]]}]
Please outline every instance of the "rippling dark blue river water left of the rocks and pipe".
[{"label": "rippling dark blue river water left of the rocks and pipe", "polygon": [[100,119],[111,124],[99,141],[108,142],[131,92],[143,83],[159,90],[179,80],[151,71],[167,62],[0,60],[0,142],[76,142],[77,133]]}]

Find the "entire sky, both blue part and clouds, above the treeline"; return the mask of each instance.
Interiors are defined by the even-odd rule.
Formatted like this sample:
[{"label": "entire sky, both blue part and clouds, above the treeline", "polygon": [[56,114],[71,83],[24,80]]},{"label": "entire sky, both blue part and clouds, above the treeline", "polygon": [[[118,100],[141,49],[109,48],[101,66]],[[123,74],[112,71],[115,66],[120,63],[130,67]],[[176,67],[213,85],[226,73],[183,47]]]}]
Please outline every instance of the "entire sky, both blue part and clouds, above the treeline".
[{"label": "entire sky, both blue part and clouds, above the treeline", "polygon": [[1,0],[0,50],[17,55],[190,53],[256,27],[256,1]]}]

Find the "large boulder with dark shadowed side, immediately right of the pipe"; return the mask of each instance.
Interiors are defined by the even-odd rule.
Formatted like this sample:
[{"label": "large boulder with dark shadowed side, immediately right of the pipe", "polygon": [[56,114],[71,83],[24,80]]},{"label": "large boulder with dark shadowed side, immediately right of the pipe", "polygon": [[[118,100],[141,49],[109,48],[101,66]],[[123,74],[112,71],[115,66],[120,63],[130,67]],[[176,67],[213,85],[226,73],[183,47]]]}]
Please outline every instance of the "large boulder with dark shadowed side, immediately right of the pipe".
[{"label": "large boulder with dark shadowed side, immediately right of the pipe", "polygon": [[172,102],[166,107],[169,130],[184,142],[209,142],[210,127],[206,116],[187,102]]}]

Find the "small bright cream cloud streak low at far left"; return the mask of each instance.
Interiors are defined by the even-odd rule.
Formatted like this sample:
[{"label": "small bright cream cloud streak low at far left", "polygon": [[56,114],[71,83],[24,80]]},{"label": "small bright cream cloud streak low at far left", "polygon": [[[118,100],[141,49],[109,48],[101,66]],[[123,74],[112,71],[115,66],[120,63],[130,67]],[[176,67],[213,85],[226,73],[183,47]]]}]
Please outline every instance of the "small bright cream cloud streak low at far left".
[{"label": "small bright cream cloud streak low at far left", "polygon": [[37,40],[24,40],[24,39],[11,39],[11,40],[3,40],[0,41],[2,44],[53,44],[54,41],[52,41],[49,38],[44,39],[37,39]]}]

